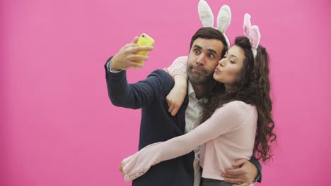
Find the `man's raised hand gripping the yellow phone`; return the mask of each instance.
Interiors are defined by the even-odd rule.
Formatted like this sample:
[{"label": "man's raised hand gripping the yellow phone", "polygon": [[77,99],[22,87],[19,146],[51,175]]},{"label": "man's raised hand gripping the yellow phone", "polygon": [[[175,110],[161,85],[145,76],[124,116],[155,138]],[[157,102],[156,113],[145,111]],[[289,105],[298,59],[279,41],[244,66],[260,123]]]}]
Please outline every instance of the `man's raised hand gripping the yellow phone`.
[{"label": "man's raised hand gripping the yellow phone", "polygon": [[[143,37],[141,35],[141,37]],[[145,35],[146,36],[146,35]],[[142,61],[149,59],[146,56],[148,51],[153,50],[153,44],[150,46],[139,46],[137,44],[138,37],[134,37],[134,40],[130,44],[126,44],[117,52],[117,54],[110,61],[110,67],[112,70],[127,70],[128,68],[141,68],[144,66]]]}]

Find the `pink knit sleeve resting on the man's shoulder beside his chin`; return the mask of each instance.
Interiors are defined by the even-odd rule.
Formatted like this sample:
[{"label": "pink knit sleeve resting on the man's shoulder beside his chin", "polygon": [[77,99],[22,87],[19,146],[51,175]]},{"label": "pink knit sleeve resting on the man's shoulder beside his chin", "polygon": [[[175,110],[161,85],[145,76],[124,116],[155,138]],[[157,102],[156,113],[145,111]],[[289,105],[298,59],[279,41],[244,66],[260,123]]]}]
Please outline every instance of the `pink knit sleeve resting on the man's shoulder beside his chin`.
[{"label": "pink knit sleeve resting on the man's shoulder beside his chin", "polygon": [[165,70],[171,76],[182,75],[184,77],[187,77],[186,63],[187,56],[182,56],[176,58],[175,61],[173,61],[173,63],[168,68],[163,68],[163,70]]}]

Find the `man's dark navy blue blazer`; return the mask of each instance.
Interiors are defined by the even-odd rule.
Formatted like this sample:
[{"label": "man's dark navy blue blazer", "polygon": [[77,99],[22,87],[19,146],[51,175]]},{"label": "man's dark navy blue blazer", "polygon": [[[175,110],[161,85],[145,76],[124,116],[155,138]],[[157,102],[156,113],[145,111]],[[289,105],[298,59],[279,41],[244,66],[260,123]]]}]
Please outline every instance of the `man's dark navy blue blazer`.
[{"label": "man's dark navy blue blazer", "polygon": [[[111,59],[111,58],[110,58]],[[110,61],[110,59],[108,61]],[[145,80],[128,84],[126,71],[110,73],[105,64],[108,95],[112,104],[141,109],[139,149],[184,134],[188,97],[176,116],[168,112],[166,95],[175,85],[164,70],[153,71]],[[144,175],[133,180],[134,186],[192,186],[194,152],[151,166]]]}]

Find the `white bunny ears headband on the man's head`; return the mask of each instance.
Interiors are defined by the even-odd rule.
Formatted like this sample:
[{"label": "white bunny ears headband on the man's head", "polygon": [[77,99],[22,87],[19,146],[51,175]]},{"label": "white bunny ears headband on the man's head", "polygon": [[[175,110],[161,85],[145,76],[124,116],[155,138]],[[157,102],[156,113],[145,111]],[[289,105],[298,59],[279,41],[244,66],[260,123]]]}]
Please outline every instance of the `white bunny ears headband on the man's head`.
[{"label": "white bunny ears headband on the man's head", "polygon": [[[207,4],[207,1],[200,0],[198,5],[199,17],[204,27],[213,27],[214,26],[214,16],[211,11],[210,6]],[[223,5],[219,10],[219,16],[217,16],[217,30],[219,30],[224,37],[226,38],[226,43],[230,47],[230,42],[228,37],[225,35],[225,31],[228,28],[228,25],[231,23],[231,10],[227,5]]]}]

